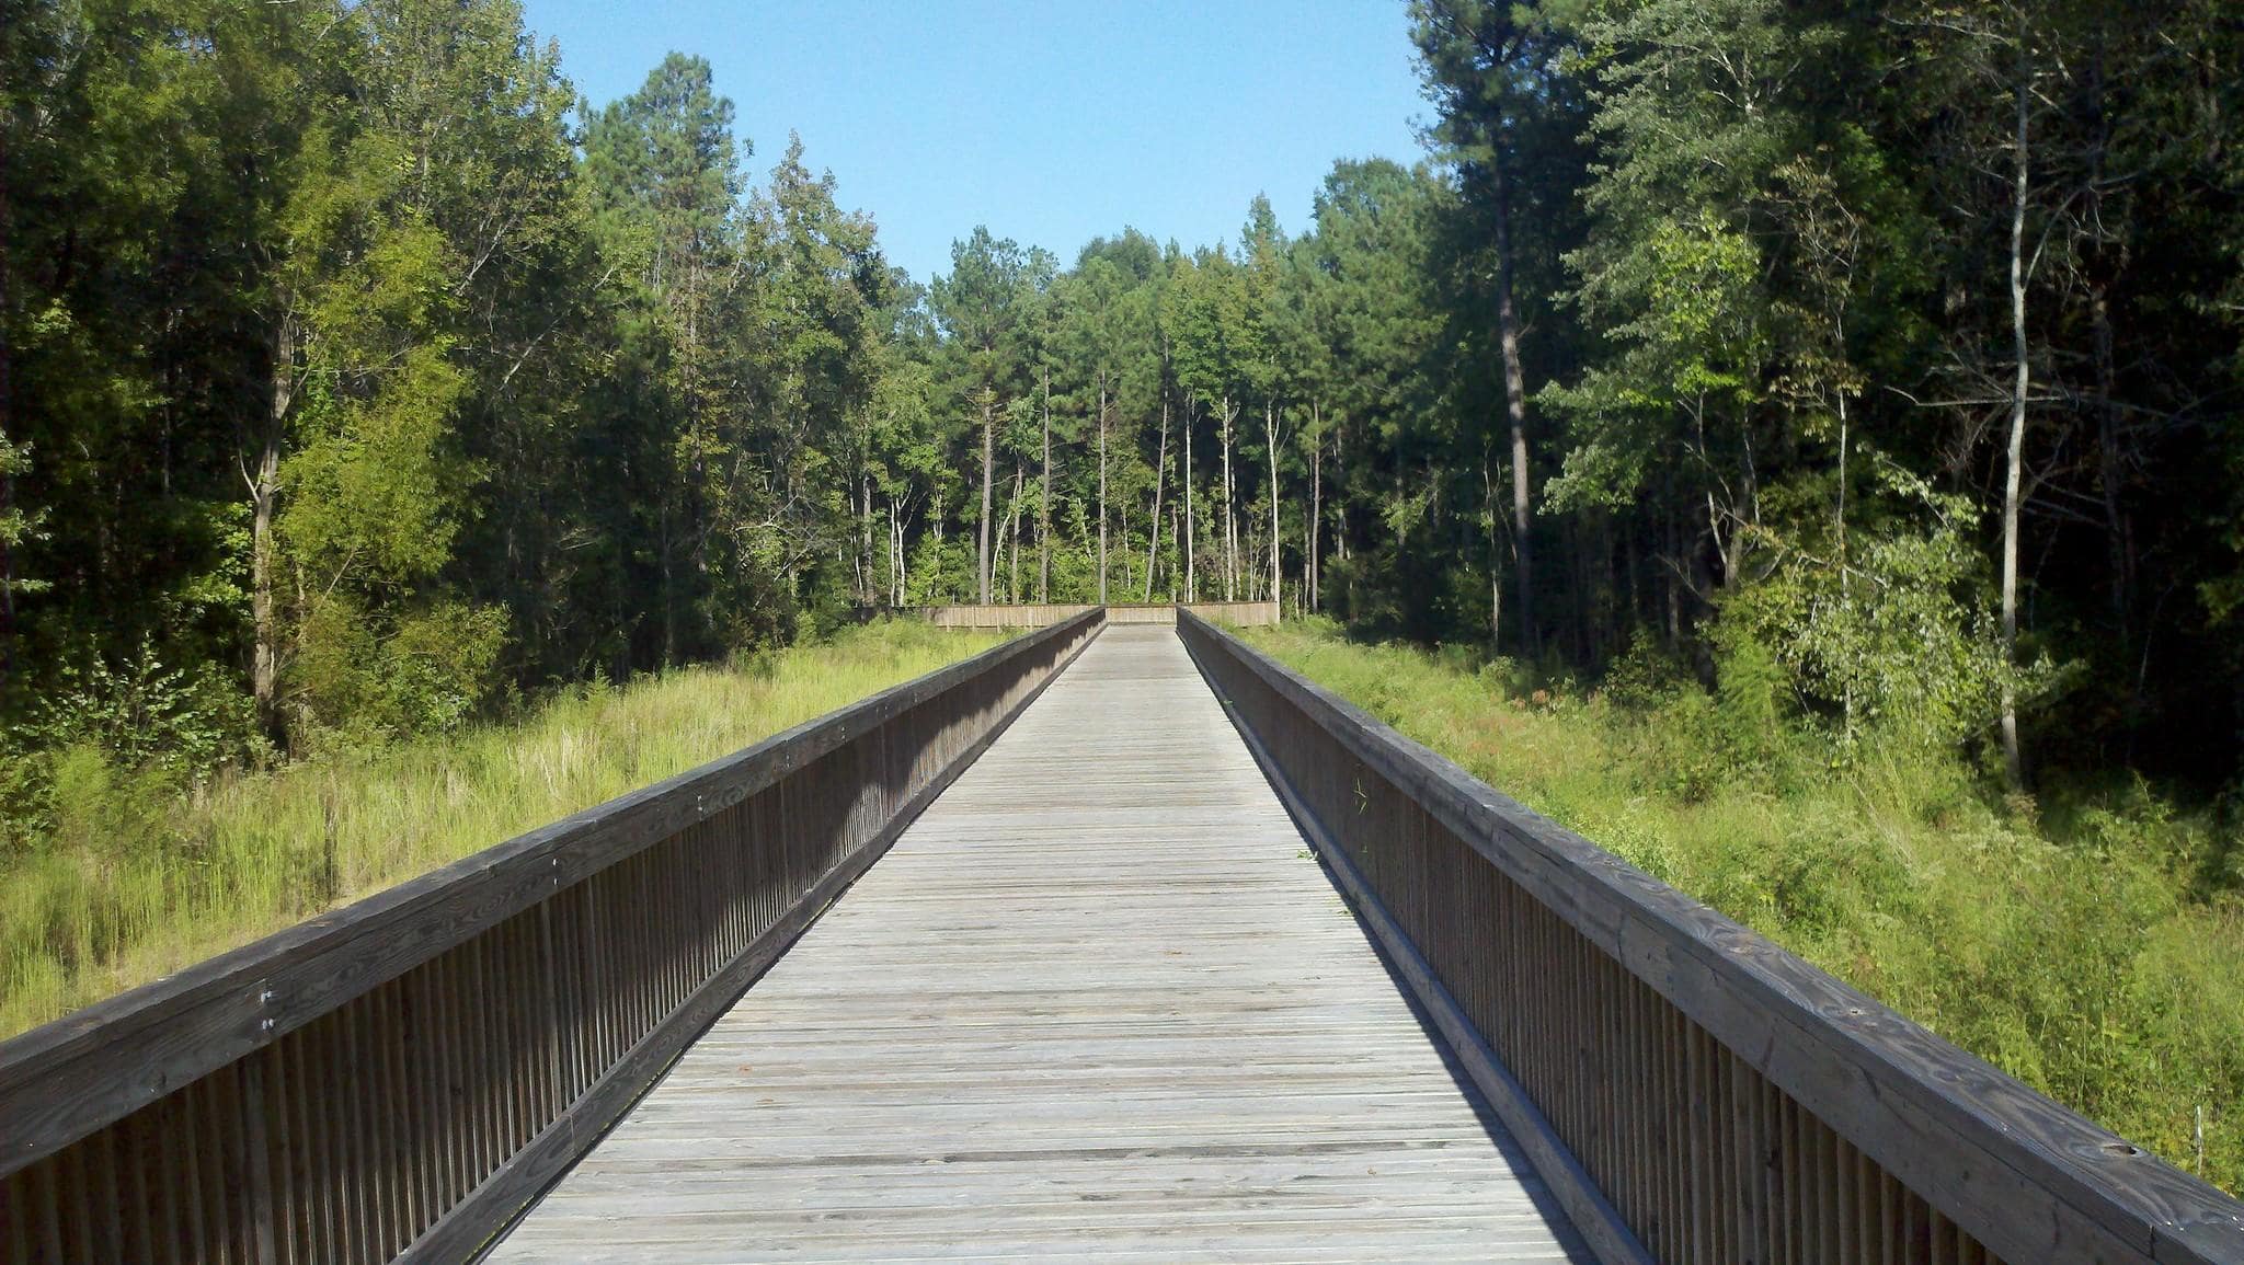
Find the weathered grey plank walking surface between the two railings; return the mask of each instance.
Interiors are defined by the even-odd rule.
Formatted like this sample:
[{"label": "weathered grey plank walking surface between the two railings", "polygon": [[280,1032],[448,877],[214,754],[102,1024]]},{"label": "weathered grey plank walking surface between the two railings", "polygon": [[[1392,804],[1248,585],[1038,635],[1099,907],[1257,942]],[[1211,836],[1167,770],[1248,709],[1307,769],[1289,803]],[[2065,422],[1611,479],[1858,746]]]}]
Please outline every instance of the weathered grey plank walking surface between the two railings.
[{"label": "weathered grey plank walking surface between the two railings", "polygon": [[494,1261],[1587,1258],[1169,628],[1106,628]]}]

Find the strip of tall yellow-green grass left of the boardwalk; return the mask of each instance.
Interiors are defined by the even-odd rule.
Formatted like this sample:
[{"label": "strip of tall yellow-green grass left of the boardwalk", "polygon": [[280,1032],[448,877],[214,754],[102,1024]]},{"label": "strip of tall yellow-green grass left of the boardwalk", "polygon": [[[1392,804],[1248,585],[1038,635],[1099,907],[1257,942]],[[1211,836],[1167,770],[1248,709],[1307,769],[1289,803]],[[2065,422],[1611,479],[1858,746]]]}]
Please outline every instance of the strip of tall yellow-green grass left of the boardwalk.
[{"label": "strip of tall yellow-green grass left of the boardwalk", "polygon": [[516,724],[330,754],[195,794],[94,749],[0,857],[0,1036],[280,931],[1003,639],[886,621],[729,668],[559,695]]}]

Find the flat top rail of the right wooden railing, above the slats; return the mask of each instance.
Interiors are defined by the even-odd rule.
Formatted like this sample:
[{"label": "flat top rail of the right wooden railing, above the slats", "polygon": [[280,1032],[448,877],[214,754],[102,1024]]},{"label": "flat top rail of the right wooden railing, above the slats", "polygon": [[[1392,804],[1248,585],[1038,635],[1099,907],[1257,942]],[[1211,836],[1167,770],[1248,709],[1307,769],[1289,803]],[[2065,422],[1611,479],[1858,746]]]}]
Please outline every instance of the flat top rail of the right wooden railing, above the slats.
[{"label": "flat top rail of the right wooden railing, above the slats", "polygon": [[[1957,1204],[1957,1220],[2006,1229],[1981,1238],[2078,1254],[2053,1202],[2154,1261],[2244,1261],[2244,1202],[1524,807],[1223,626],[1189,610],[1180,621],[1865,1153],[1889,1166],[1914,1153],[1912,1166],[1948,1171],[1948,1189],[1928,1193]],[[2020,1184],[2051,1200],[2020,1207],[2006,1195]]]}]

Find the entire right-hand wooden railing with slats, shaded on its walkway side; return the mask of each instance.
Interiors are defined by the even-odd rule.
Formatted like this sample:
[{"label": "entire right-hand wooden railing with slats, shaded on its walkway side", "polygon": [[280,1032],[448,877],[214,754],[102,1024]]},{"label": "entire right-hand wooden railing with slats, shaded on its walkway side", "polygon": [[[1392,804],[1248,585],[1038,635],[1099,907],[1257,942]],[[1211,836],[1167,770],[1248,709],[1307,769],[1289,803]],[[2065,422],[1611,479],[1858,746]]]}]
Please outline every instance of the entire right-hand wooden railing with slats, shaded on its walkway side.
[{"label": "entire right-hand wooden railing with slats, shaded on its walkway side", "polygon": [[2215,1186],[1178,624],[1604,1261],[2244,1261]]}]

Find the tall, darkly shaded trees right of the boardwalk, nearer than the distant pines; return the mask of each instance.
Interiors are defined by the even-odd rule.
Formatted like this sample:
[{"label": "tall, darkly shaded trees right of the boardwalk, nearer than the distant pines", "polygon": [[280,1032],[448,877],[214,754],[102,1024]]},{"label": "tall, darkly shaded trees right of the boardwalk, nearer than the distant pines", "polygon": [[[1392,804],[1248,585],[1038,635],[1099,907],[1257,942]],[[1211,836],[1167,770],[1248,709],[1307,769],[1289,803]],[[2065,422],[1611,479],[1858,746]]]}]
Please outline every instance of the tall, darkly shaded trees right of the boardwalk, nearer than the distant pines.
[{"label": "tall, darkly shaded trees right of the boardwalk, nearer than the distant pines", "polygon": [[2013,787],[2235,776],[2231,4],[1427,0],[1411,27],[1495,287],[1477,381],[1512,377],[1468,415],[1508,422],[1530,653],[1766,659],[1845,745],[1972,749]]}]

